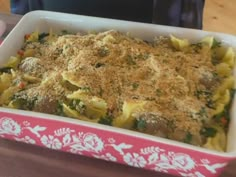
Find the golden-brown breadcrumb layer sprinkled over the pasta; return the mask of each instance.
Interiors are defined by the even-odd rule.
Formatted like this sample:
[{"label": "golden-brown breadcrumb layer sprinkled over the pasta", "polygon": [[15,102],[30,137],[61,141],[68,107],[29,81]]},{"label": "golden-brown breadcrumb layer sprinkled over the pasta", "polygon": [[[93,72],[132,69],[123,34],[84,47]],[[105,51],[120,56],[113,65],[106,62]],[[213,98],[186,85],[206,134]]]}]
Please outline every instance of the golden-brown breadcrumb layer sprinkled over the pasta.
[{"label": "golden-brown breadcrumb layer sprinkled over the pasta", "polygon": [[[197,91],[213,91],[218,84],[210,50],[176,51],[168,38],[149,43],[114,30],[57,36],[50,43],[26,44],[25,49],[32,45],[34,57],[24,59],[18,72],[33,73],[42,82],[22,95],[47,97],[49,102],[63,99],[72,93],[65,87],[64,74],[70,84],[103,98],[114,117],[121,114],[125,100],[144,100],[146,112],[196,136],[203,119],[211,118],[207,100],[196,96]],[[150,121],[155,122],[153,116]]]}]

